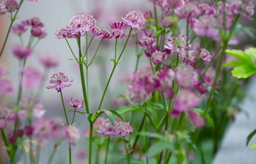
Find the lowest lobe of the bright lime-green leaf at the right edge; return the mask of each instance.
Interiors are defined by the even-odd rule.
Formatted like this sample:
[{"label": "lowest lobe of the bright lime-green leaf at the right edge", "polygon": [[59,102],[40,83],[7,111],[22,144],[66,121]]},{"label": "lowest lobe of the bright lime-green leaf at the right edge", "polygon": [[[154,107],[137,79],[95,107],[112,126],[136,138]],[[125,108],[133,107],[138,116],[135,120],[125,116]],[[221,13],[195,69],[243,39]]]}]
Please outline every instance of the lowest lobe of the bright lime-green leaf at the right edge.
[{"label": "lowest lobe of the bright lime-green leaf at the right edge", "polygon": [[233,69],[232,75],[237,78],[248,78],[256,72],[255,68],[250,67],[249,65],[243,65],[240,67],[235,67]]}]

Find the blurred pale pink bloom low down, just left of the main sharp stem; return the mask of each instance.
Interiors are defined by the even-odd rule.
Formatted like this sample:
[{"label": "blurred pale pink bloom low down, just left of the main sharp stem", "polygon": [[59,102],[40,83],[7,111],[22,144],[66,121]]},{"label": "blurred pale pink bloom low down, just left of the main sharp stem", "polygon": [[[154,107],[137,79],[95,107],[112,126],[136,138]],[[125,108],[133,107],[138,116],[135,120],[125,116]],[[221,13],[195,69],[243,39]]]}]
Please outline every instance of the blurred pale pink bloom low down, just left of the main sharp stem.
[{"label": "blurred pale pink bloom low down, just left of the main sharp stem", "polygon": [[71,145],[76,145],[78,140],[80,140],[80,132],[77,127],[68,125],[65,127],[65,134],[67,136],[68,142]]}]

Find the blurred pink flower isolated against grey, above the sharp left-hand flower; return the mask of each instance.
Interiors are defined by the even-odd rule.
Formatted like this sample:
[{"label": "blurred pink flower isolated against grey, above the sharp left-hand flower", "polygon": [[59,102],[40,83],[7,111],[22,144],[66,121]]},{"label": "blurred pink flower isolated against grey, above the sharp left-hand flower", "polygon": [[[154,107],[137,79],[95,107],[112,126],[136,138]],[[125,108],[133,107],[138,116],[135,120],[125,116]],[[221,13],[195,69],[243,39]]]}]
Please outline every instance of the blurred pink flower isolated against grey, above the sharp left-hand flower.
[{"label": "blurred pink flower isolated against grey, above the sharp left-hand flower", "polygon": [[54,68],[60,64],[60,58],[55,54],[41,54],[38,56],[39,62],[46,68]]}]

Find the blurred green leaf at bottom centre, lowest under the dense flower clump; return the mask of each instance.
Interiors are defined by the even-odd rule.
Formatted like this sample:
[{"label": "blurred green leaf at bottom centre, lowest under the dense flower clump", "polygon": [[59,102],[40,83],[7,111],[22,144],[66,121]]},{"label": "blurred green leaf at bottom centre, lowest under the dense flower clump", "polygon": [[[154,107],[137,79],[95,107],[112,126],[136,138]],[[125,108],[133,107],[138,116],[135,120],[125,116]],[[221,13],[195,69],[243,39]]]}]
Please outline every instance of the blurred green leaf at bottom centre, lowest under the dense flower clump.
[{"label": "blurred green leaf at bottom centre, lowest under the dense flower clump", "polygon": [[161,153],[164,150],[173,150],[173,145],[171,144],[171,142],[157,142],[154,143],[149,150],[147,151],[146,157],[150,158],[152,156],[155,156],[159,153]]}]

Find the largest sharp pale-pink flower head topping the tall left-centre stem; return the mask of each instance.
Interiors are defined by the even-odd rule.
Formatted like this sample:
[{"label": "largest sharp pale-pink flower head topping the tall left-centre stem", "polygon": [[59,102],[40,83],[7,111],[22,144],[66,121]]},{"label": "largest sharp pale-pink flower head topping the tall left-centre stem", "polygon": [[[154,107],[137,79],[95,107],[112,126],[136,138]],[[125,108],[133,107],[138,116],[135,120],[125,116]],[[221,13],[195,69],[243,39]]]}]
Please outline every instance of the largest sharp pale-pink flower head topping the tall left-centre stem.
[{"label": "largest sharp pale-pink flower head topping the tall left-centre stem", "polygon": [[80,33],[80,36],[84,36],[96,25],[96,19],[91,14],[78,14],[73,16],[69,24],[67,29],[71,34]]}]

